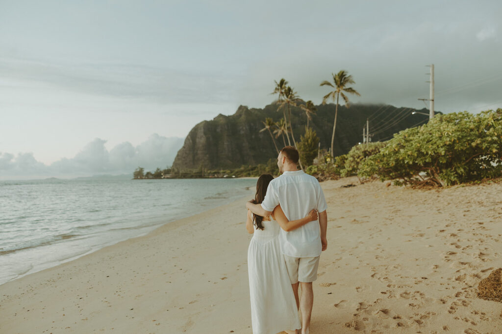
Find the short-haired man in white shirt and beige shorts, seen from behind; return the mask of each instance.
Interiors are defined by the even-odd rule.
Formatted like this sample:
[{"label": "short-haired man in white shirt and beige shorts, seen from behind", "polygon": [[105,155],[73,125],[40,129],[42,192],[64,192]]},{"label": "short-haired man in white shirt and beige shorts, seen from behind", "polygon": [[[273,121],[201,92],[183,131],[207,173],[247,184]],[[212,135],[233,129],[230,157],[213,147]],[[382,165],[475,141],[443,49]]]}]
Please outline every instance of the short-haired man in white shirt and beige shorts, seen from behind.
[{"label": "short-haired man in white shirt and beige shorts, seen from behind", "polygon": [[[311,221],[290,232],[281,229],[279,234],[296,304],[302,313],[302,334],[307,334],[314,302],[312,282],[317,279],[321,251],[328,246],[328,217],[326,200],[319,182],[313,176],[298,170],[298,160],[298,151],[294,147],[282,148],[277,157],[277,166],[282,175],[270,182],[263,203],[254,204],[249,201],[246,207],[253,213],[266,217],[281,204],[288,220],[303,218],[312,209],[319,212],[319,222]],[[299,285],[302,286],[301,298],[298,297]]]}]

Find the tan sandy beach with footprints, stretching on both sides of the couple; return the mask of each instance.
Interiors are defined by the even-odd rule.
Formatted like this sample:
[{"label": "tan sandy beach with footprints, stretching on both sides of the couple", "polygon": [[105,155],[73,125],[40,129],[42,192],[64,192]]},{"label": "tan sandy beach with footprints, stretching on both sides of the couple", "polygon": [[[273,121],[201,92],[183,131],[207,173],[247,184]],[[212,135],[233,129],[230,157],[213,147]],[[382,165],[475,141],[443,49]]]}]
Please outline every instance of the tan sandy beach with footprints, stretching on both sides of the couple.
[{"label": "tan sandy beach with footprints, stretching on both sides of the couple", "polygon": [[[311,333],[502,332],[476,295],[502,267],[502,185],[322,187]],[[0,285],[0,332],[250,333],[245,216],[239,200]]]}]

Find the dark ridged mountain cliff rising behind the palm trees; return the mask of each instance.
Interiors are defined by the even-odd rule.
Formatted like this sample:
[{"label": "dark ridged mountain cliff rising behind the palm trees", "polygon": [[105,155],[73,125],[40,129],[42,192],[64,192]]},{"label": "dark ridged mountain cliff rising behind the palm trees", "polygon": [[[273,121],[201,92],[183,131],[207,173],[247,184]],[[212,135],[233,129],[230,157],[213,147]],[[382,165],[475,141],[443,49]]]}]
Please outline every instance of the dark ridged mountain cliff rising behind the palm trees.
[{"label": "dark ridged mountain cliff rising behind the palm trees", "polygon": [[[333,104],[316,106],[316,115],[309,125],[317,132],[321,149],[329,149],[335,106]],[[427,113],[428,110],[418,110]],[[362,141],[362,128],[370,118],[369,133],[374,132],[371,141],[387,140],[396,132],[424,124],[428,116],[411,114],[408,108],[396,108],[389,105],[354,104],[350,108],[338,106],[334,155],[347,153],[350,148]],[[293,132],[297,142],[305,132],[307,118],[299,107],[292,107]],[[265,163],[277,157],[272,138],[264,128],[262,121],[266,117],[275,122],[283,117],[277,105],[268,105],[263,109],[240,106],[235,114],[219,114],[211,121],[197,124],[188,134],[183,147],[178,151],[173,168],[187,169],[226,169],[242,165]],[[372,131],[374,129],[375,131]],[[279,148],[284,146],[282,137],[274,138]],[[288,144],[286,139],[286,145]],[[292,143],[293,144],[293,143]]]}]

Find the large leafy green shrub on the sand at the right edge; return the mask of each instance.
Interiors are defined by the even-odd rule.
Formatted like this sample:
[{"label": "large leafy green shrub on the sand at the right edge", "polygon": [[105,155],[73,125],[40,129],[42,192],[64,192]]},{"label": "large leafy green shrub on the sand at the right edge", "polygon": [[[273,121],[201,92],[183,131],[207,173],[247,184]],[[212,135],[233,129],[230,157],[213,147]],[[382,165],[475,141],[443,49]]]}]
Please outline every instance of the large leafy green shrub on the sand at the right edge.
[{"label": "large leafy green shrub on the sand at the right edge", "polygon": [[394,135],[358,176],[395,184],[453,185],[502,175],[502,109],[437,115]]}]

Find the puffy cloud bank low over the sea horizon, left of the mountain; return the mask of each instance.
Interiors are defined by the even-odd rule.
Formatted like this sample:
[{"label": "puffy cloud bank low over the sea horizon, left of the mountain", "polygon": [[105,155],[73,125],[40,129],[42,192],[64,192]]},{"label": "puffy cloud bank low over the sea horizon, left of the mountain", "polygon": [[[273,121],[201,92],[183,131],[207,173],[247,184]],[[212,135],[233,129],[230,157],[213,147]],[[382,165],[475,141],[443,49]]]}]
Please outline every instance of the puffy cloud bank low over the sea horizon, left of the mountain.
[{"label": "puffy cloud bank low over the sea horizon, left of the mountain", "polygon": [[95,138],[73,158],[62,158],[49,166],[37,161],[33,153],[15,156],[0,152],[0,179],[128,174],[139,166],[153,171],[170,166],[183,142],[183,138],[153,134],[136,147],[123,142],[108,151],[106,140]]}]

